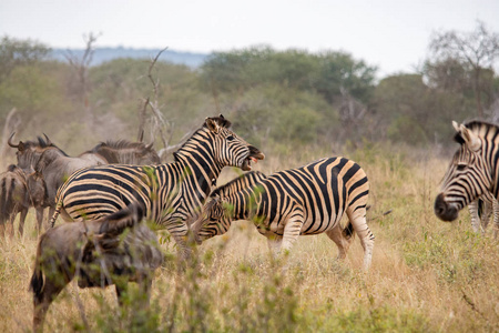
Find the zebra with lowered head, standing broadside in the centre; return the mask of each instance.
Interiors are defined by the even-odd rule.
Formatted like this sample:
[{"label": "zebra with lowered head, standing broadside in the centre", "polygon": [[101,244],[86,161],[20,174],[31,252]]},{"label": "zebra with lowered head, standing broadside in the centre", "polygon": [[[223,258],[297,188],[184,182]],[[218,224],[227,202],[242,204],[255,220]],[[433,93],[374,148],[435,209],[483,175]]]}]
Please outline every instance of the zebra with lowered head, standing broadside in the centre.
[{"label": "zebra with lowered head, standing broadside in the centre", "polygon": [[[364,248],[364,269],[369,269],[375,239],[366,223],[369,183],[356,162],[324,158],[261,176],[246,188],[240,184],[248,183],[244,178],[211,193],[192,225],[198,244],[227,232],[232,221],[251,220],[276,254],[288,251],[301,234],[325,232],[338,246],[338,259],[345,259],[355,230]],[[349,220],[345,229],[339,223],[344,213]]]}]

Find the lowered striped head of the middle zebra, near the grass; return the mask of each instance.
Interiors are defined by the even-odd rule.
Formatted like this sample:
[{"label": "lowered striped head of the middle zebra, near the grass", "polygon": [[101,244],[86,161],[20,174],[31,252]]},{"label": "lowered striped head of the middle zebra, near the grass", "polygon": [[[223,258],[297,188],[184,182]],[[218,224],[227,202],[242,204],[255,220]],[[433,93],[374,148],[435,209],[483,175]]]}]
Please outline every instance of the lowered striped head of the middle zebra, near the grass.
[{"label": "lowered striped head of the middle zebra, near the grass", "polygon": [[191,226],[197,244],[228,231],[232,222],[228,218],[228,204],[217,195],[212,196],[204,205],[200,218]]}]

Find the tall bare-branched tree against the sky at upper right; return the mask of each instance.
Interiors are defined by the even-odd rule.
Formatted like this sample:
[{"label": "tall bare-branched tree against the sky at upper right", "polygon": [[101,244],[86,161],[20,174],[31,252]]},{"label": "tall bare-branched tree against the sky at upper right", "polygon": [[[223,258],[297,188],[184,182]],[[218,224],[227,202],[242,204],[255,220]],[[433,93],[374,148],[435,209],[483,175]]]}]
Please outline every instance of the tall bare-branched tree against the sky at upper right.
[{"label": "tall bare-branched tree against the sky at upper right", "polygon": [[499,34],[489,31],[485,23],[477,21],[475,31],[447,31],[435,33],[429,46],[431,57],[437,62],[447,62],[449,59],[467,64],[471,72],[472,89],[479,117],[483,117],[482,81],[483,71],[492,70],[499,57]]}]

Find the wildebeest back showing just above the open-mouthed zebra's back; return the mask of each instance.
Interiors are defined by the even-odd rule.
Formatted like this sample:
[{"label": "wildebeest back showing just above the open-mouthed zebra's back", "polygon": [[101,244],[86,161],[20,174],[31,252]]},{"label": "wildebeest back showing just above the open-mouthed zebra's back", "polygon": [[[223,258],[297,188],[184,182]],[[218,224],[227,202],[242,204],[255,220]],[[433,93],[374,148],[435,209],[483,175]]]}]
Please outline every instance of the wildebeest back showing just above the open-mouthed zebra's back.
[{"label": "wildebeest back showing just above the open-mouthed zebra's back", "polygon": [[160,164],[160,157],[152,147],[153,143],[144,144],[142,142],[130,142],[126,140],[106,141],[99,143],[80,157],[83,158],[83,155],[88,154],[99,154],[110,164]]}]

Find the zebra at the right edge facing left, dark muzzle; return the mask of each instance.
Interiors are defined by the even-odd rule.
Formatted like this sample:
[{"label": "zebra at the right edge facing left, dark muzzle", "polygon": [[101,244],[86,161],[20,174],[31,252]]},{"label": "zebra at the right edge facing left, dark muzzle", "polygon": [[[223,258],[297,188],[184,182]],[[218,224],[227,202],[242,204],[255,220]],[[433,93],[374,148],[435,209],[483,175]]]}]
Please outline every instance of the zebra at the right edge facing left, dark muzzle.
[{"label": "zebra at the right edge facing left, dark muzzle", "polygon": [[[455,140],[460,144],[444,175],[435,199],[435,214],[445,222],[458,218],[459,211],[483,194],[499,196],[499,127],[483,121],[452,122]],[[499,231],[495,219],[493,236]]]}]

